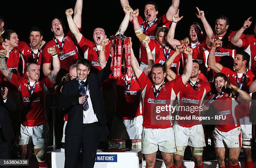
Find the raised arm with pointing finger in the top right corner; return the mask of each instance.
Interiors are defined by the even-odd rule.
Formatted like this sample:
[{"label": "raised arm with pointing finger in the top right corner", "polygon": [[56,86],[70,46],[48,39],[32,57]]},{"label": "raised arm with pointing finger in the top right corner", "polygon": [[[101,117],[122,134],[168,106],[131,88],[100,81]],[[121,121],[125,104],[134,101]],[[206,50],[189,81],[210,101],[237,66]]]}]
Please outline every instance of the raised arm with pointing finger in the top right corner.
[{"label": "raised arm with pointing finger in the top right corner", "polygon": [[246,28],[249,28],[251,26],[251,17],[248,18],[246,21],[243,23],[243,27],[240,28],[231,38],[231,43],[235,45],[236,47],[241,47],[243,45],[243,41],[241,40],[241,35],[243,34],[244,30]]}]

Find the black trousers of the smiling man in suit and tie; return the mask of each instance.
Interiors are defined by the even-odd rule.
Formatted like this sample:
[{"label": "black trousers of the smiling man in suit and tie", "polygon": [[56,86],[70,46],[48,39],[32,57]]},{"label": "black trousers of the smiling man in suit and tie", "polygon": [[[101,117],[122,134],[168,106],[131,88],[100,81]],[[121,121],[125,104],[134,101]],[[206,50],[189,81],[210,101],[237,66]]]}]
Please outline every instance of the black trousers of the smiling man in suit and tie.
[{"label": "black trousers of the smiling man in suit and tie", "polygon": [[65,168],[77,168],[81,146],[83,147],[82,168],[93,168],[99,144],[99,126],[83,126],[79,135],[65,136]]}]

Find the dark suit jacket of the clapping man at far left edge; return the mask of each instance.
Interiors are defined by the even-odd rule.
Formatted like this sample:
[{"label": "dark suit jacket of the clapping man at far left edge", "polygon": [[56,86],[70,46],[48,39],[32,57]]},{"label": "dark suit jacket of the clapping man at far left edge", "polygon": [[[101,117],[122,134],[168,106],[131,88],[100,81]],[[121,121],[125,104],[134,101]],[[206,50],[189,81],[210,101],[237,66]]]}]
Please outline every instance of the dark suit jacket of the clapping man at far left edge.
[{"label": "dark suit jacket of the clapping man at far left edge", "polygon": [[[1,86],[0,86],[1,89]],[[10,93],[7,95],[6,103],[3,102],[3,99],[0,99],[0,123],[3,136],[6,141],[10,141],[14,138],[13,127],[9,117],[9,112],[14,112],[16,110],[16,102],[13,100]]]}]

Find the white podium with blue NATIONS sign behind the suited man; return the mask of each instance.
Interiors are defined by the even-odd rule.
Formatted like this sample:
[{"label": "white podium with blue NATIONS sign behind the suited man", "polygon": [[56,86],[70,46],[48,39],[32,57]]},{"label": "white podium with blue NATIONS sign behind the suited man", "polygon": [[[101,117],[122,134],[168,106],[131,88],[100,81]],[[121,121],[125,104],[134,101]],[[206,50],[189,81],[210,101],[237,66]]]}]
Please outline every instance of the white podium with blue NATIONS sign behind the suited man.
[{"label": "white podium with blue NATIONS sign behind the suited man", "polygon": [[[141,150],[127,152],[97,150],[94,168],[139,168],[139,160],[142,160]],[[51,152],[51,168],[64,168],[64,162],[64,152],[60,149]]]}]

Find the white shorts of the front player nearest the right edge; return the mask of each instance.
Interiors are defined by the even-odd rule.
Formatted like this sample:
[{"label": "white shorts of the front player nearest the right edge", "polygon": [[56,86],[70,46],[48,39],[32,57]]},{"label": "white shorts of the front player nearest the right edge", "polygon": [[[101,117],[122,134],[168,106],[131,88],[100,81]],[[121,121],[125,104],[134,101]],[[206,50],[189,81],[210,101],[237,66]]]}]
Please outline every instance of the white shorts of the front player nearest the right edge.
[{"label": "white shorts of the front player nearest the right edge", "polygon": [[243,117],[239,119],[242,130],[242,138],[252,138],[252,123],[250,122],[250,117]]}]

